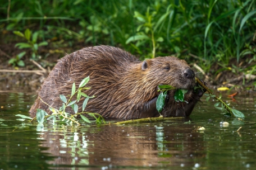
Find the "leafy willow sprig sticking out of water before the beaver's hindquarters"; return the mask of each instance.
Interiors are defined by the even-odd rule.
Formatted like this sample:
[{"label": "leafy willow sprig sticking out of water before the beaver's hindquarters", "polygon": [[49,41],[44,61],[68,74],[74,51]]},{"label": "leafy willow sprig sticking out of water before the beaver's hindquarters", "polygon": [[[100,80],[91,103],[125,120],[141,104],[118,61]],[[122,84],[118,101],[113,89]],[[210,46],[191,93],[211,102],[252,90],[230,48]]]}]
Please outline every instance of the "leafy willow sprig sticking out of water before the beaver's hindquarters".
[{"label": "leafy willow sprig sticking out of water before the beaver's hindquarters", "polygon": [[[43,124],[43,122],[45,122],[46,120],[52,120],[53,122],[64,122],[66,124],[74,124],[75,123],[75,124],[80,125],[80,123],[78,122],[79,120],[77,120],[77,118],[76,118],[79,115],[84,122],[91,123],[91,121],[87,117],[84,116],[84,114],[87,114],[90,117],[94,117],[97,124],[101,124],[102,121],[105,122],[101,115],[84,111],[89,98],[94,97],[94,96],[87,96],[84,92],[81,92],[86,89],[89,89],[88,87],[84,87],[86,85],[86,83],[88,83],[89,79],[90,79],[89,77],[84,78],[83,81],[81,81],[79,88],[77,88],[77,89],[76,89],[75,83],[73,83],[72,90],[71,90],[71,96],[68,98],[68,100],[64,95],[60,95],[61,101],[63,103],[59,109],[53,108],[53,107],[49,106],[47,103],[45,103],[46,105],[49,106],[49,110],[51,110],[51,112],[52,112],[50,115],[48,115],[47,112],[45,112],[42,109],[37,109],[36,117],[34,117],[34,119],[32,119],[31,117],[25,116],[25,115],[16,115],[16,116],[21,117],[22,121],[24,121],[24,119],[32,119],[32,120],[36,119],[39,124]],[[81,112],[78,112],[79,108],[77,105],[77,102],[79,102],[80,97],[79,97],[79,100],[71,101],[72,98],[77,98],[77,96],[86,97],[83,102]],[[40,100],[42,100],[42,99],[40,98]],[[44,101],[42,101],[42,102],[44,102]],[[72,114],[66,112],[67,107],[71,107],[74,110],[75,114],[72,115]]]}]

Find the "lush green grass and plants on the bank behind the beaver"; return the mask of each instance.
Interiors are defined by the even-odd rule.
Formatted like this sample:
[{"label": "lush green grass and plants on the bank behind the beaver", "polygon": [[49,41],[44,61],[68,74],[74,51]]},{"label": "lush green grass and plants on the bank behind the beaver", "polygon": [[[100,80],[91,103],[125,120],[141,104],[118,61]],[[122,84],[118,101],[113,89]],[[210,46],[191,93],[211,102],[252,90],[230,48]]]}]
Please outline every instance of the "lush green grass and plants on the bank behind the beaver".
[{"label": "lush green grass and plants on the bank behind the beaver", "polygon": [[[256,61],[255,0],[9,0],[2,2],[0,16],[3,35],[29,29],[56,49],[112,45],[140,59],[177,55],[205,70],[213,62],[231,69],[231,60]],[[237,64],[232,69],[239,70]],[[255,64],[243,69],[255,70]]]}]

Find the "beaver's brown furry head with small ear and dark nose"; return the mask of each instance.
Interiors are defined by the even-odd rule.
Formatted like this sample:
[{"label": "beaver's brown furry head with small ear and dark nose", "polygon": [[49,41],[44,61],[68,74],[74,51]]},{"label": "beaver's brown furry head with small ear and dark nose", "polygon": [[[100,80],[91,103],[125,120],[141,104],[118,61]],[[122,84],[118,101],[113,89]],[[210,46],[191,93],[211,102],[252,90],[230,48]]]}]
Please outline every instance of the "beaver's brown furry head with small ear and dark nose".
[{"label": "beaver's brown furry head with small ear and dark nose", "polygon": [[153,86],[168,84],[180,89],[191,89],[195,85],[195,73],[185,60],[174,56],[145,60],[141,69],[147,72],[147,80]]}]

